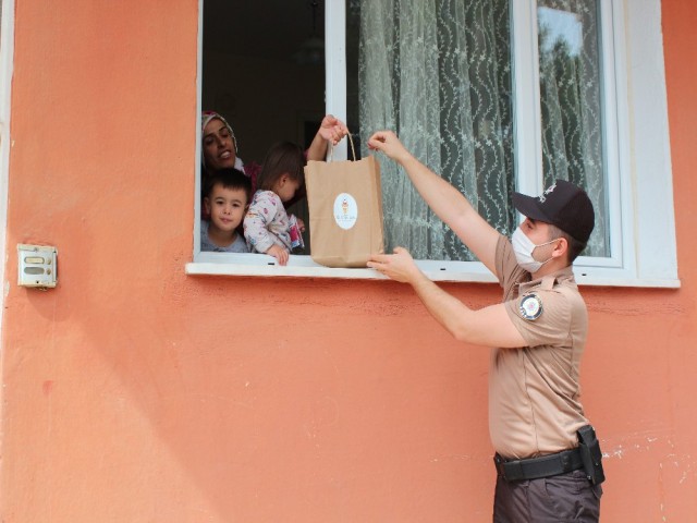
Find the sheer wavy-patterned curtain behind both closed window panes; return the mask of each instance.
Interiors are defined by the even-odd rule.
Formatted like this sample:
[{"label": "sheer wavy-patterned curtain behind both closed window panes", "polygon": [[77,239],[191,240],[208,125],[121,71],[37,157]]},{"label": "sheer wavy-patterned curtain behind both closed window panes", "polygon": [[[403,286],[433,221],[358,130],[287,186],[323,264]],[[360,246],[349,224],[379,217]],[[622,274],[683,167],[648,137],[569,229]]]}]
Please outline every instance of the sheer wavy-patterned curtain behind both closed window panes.
[{"label": "sheer wavy-patterned curtain behind both closed window panes", "polygon": [[[376,130],[395,131],[504,234],[517,227],[511,204],[515,148],[509,3],[348,2],[348,24],[359,33],[362,142]],[[584,254],[608,256],[598,0],[538,0],[537,7],[543,185],[564,179],[587,190],[596,229]],[[365,144],[362,153],[367,153]],[[396,165],[378,157],[388,251],[402,245],[417,259],[474,259]]]}]

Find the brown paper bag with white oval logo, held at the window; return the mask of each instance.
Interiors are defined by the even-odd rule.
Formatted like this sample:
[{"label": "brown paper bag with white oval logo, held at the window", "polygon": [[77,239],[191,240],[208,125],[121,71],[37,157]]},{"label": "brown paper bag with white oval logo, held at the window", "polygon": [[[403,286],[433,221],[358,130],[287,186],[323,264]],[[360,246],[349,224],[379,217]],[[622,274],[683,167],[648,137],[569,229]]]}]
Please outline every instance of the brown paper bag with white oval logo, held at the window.
[{"label": "brown paper bag with white oval logo, held at the window", "polygon": [[380,165],[374,156],[310,160],[305,183],[313,260],[327,267],[365,267],[371,254],[384,252]]}]

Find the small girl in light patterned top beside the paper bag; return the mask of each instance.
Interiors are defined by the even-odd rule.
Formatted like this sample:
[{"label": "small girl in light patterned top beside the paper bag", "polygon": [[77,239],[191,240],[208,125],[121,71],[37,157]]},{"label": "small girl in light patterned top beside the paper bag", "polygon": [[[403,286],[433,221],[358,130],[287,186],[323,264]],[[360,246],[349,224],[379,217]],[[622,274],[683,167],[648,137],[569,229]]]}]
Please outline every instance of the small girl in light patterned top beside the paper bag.
[{"label": "small girl in light patterned top beside the paper bag", "polygon": [[244,238],[249,252],[264,253],[285,265],[295,238],[292,226],[305,230],[303,220],[289,216],[284,203],[295,196],[305,182],[303,149],[290,142],[273,145],[266,155],[257,178],[257,192],[244,218]]}]

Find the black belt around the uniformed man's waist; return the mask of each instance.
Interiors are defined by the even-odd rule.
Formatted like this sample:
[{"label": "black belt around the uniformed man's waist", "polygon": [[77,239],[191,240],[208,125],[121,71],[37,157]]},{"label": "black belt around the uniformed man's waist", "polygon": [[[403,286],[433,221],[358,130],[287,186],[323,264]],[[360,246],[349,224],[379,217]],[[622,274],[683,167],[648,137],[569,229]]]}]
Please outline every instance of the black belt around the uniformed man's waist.
[{"label": "black belt around the uniformed man's waist", "polygon": [[527,460],[506,461],[496,454],[493,462],[497,465],[497,472],[506,482],[558,476],[584,467],[580,450],[577,448]]}]

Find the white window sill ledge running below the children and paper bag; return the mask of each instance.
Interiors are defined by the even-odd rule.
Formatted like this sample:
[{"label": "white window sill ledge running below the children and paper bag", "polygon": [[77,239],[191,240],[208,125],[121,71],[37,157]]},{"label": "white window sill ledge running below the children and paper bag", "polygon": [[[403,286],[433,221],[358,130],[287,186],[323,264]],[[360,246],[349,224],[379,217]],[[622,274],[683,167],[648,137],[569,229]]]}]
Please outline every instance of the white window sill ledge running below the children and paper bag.
[{"label": "white window sill ledge running below the children and paper bag", "polygon": [[[477,262],[425,262],[418,267],[432,281],[461,283],[497,283],[497,279]],[[276,258],[262,254],[198,253],[195,262],[186,264],[188,276],[233,276],[271,278],[332,278],[348,280],[387,280],[375,269],[341,269],[316,264],[309,256],[291,256],[286,266],[277,265]],[[574,275],[579,285],[680,289],[677,278],[638,278],[622,268],[600,268],[578,265]]]}]

